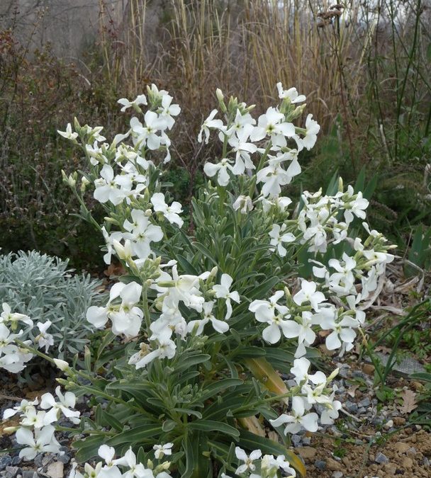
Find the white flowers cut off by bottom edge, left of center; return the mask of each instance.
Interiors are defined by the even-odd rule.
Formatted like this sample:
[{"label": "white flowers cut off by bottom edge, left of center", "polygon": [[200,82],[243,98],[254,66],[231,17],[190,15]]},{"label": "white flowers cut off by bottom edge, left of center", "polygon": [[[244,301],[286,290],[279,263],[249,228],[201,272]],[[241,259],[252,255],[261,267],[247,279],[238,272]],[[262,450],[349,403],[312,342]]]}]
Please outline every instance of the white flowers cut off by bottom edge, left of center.
[{"label": "white flowers cut off by bottom edge, left of center", "polygon": [[[172,455],[172,443],[154,445],[155,459],[162,460],[164,455]],[[108,445],[101,445],[98,450],[103,462],[98,462],[92,467],[89,463],[84,465],[84,474],[77,470],[77,463],[72,465],[69,478],[171,478],[167,472],[170,462],[160,462],[156,467],[148,460],[147,467],[138,462],[132,448],[125,452],[123,457],[114,458],[116,450]],[[121,471],[123,470],[123,471]]]}]

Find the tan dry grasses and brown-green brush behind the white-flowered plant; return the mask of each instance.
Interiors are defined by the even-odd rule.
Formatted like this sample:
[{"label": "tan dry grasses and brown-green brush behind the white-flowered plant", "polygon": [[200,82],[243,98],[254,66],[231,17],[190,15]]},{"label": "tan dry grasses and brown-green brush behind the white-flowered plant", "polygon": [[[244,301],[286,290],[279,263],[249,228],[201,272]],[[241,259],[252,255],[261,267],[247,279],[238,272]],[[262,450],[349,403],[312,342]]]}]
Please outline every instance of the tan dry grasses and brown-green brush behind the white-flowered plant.
[{"label": "tan dry grasses and brown-green brush behind the white-flowered plant", "polygon": [[410,260],[425,266],[430,12],[423,0],[129,0],[118,17],[99,0],[94,41],[71,62],[49,43],[33,47],[40,15],[23,40],[9,8],[0,32],[0,246],[69,256],[78,267],[99,263],[100,238],[70,214],[77,205],[61,180],[61,169],[82,161],[56,133],[74,115],[104,125],[109,138],[126,127],[117,98],[151,82],[168,89],[183,108],[170,174],[187,205],[203,162],[218,154],[196,142],[215,89],[264,107],[282,81],[306,94],[323,127],[289,194],[325,187],[335,171],[345,182],[362,169],[367,182],[378,175],[371,223],[401,246],[416,237]]}]

